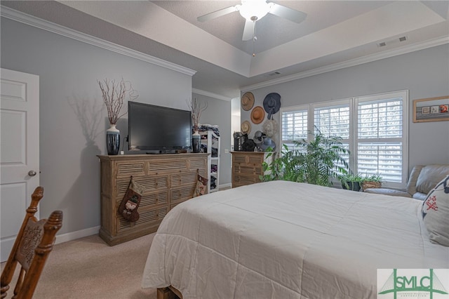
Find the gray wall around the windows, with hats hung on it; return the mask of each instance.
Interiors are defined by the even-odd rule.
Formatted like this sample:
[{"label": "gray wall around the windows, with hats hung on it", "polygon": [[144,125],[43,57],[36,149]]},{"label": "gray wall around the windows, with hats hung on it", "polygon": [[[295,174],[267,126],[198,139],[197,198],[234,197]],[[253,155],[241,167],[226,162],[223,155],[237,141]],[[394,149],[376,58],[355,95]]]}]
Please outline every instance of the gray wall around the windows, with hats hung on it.
[{"label": "gray wall around the windows, with hats hung on it", "polygon": [[[409,170],[417,164],[449,164],[449,121],[413,123],[412,114],[413,100],[449,95],[448,44],[251,92],[255,106],[263,106],[268,93],[279,93],[281,107],[288,107],[400,90],[409,91]],[[279,115],[274,114],[278,124]],[[250,111],[241,109],[245,120],[250,121]],[[251,123],[250,138],[262,124]]]}]

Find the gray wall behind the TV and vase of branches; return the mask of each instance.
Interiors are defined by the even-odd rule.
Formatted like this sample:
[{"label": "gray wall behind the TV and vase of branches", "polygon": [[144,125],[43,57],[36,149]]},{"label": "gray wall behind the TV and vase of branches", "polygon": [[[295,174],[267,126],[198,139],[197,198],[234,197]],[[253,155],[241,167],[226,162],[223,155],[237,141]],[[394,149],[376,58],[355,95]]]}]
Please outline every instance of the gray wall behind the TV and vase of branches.
[{"label": "gray wall behind the TV and vase of branches", "polygon": [[[60,234],[100,225],[96,155],[106,154],[109,122],[97,79],[132,82],[138,102],[187,109],[192,97],[189,75],[6,18],[1,18],[1,67],[40,77],[40,183],[45,188],[40,211],[63,211]],[[122,136],[126,122],[125,116],[117,124]]]}]

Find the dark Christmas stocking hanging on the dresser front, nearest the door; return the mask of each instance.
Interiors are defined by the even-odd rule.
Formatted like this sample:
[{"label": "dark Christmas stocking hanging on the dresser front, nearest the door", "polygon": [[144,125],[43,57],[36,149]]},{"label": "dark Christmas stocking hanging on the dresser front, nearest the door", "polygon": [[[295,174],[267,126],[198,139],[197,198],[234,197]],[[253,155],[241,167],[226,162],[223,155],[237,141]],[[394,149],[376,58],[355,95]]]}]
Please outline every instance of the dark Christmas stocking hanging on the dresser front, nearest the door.
[{"label": "dark Christmas stocking hanging on the dresser front, nearest the door", "polygon": [[144,192],[145,187],[135,182],[133,176],[131,176],[128,190],[126,190],[119,206],[119,213],[129,222],[136,222],[139,219],[138,207]]}]

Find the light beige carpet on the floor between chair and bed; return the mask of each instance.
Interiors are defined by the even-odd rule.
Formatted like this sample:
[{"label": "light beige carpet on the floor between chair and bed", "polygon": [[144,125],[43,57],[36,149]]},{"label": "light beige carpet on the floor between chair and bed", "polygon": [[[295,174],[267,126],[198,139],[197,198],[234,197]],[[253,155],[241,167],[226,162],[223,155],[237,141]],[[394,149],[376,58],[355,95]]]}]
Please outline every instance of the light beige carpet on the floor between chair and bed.
[{"label": "light beige carpet on the floor between chair and bed", "polygon": [[[155,289],[140,286],[153,237],[108,246],[95,234],[55,245],[33,298],[156,299]],[[7,298],[14,285],[15,277]]]}]

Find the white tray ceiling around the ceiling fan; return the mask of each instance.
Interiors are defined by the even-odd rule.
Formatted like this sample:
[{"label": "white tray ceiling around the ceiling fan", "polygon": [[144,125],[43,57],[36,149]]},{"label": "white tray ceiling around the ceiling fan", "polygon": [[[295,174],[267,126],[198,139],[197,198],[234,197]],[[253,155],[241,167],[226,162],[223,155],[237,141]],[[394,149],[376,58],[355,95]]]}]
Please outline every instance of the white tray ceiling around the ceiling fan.
[{"label": "white tray ceiling around the ceiling fan", "polygon": [[[449,1],[273,1],[307,13],[276,15],[242,41],[239,12],[198,22],[240,1],[1,1],[29,15],[194,69],[195,91],[239,97],[270,82],[449,42]],[[399,38],[406,36],[406,41]],[[386,46],[378,44],[385,42]],[[253,57],[253,53],[255,56]],[[279,74],[276,74],[279,73]]]}]

